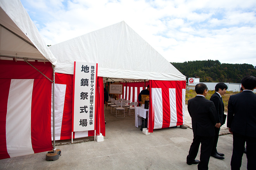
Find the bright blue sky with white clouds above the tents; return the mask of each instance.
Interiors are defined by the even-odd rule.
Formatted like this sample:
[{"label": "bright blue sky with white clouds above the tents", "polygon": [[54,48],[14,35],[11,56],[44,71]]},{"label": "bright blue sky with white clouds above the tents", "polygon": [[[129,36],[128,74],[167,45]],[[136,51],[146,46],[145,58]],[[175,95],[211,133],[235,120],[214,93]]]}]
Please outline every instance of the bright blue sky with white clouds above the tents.
[{"label": "bright blue sky with white clouds above the tents", "polygon": [[256,0],[21,0],[47,45],[125,21],[169,62],[256,66]]}]

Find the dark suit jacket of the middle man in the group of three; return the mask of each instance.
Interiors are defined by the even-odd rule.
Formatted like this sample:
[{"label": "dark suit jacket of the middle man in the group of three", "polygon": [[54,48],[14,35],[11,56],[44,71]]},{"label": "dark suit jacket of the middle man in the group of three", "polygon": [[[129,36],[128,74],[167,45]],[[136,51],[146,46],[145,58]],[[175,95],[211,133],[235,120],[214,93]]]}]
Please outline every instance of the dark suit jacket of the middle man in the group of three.
[{"label": "dark suit jacket of the middle man in the group of three", "polygon": [[213,101],[217,114],[218,114],[218,119],[217,119],[217,123],[220,123],[221,125],[223,125],[223,117],[224,117],[224,104],[220,98],[220,95],[218,93],[213,93],[213,95],[210,98],[211,101]]}]

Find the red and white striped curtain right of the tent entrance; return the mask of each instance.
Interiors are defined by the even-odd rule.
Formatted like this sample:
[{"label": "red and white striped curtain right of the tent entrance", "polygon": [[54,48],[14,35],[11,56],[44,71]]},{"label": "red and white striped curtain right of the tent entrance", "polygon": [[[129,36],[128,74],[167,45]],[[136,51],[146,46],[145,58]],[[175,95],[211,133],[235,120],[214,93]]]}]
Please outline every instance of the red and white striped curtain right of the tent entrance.
[{"label": "red and white striped curtain right of the tent entrance", "polygon": [[186,82],[150,80],[149,83],[149,132],[183,125]]}]

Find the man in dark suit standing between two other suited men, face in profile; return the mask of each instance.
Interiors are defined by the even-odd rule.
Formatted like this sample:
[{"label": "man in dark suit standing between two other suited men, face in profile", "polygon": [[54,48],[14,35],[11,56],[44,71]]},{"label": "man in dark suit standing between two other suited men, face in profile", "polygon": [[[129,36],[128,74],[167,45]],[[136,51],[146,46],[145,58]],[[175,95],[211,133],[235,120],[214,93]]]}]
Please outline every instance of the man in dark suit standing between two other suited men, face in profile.
[{"label": "man in dark suit standing between two other suited men, face in profile", "polygon": [[222,95],[225,95],[227,92],[226,90],[228,89],[228,86],[225,83],[217,83],[215,86],[215,93],[211,96],[211,101],[213,101],[218,119],[217,119],[217,124],[218,126],[214,127],[215,130],[215,136],[214,136],[214,143],[213,143],[213,149],[211,150],[211,156],[214,158],[223,160],[224,159],[224,154],[219,153],[217,151],[217,143],[218,143],[218,138],[219,138],[219,133],[220,133],[220,127],[225,123],[226,121],[226,115],[224,114],[224,104],[222,100]]}]

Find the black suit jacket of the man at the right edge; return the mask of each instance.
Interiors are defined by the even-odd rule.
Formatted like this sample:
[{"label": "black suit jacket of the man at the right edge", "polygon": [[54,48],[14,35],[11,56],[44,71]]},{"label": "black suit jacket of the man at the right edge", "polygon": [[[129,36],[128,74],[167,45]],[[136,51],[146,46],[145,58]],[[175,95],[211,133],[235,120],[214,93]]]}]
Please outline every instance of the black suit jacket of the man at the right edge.
[{"label": "black suit jacket of the man at the right edge", "polygon": [[232,132],[256,138],[256,94],[246,90],[231,95],[227,117]]}]

